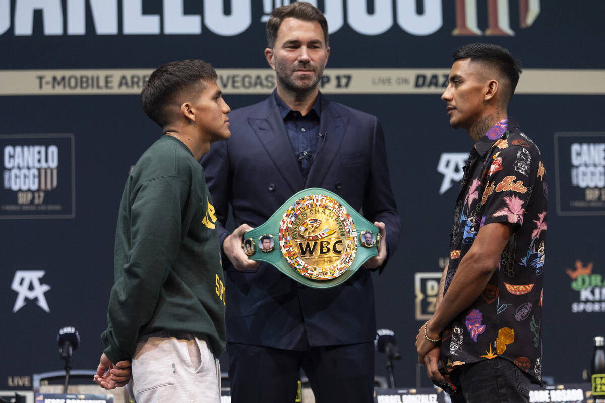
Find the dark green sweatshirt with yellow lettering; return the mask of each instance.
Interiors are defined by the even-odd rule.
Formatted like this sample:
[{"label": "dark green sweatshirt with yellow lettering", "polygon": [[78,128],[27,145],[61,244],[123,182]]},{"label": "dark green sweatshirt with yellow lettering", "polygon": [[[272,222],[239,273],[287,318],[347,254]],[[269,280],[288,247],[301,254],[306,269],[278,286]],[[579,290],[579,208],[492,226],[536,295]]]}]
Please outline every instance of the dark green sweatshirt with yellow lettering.
[{"label": "dark green sweatshirt with yellow lettering", "polygon": [[117,220],[115,283],[105,354],[131,359],[139,337],[168,330],[225,346],[217,218],[204,170],[180,140],[163,135],[126,181]]}]

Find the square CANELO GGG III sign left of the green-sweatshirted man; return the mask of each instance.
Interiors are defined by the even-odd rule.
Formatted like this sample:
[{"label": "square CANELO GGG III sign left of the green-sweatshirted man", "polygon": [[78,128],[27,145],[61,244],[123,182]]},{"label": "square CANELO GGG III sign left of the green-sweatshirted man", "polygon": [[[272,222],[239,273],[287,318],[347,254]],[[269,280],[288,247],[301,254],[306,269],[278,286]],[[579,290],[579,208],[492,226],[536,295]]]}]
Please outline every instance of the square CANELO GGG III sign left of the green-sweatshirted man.
[{"label": "square CANELO GGG III sign left of the green-sweatshirted man", "polygon": [[73,137],[0,136],[0,218],[73,216]]}]

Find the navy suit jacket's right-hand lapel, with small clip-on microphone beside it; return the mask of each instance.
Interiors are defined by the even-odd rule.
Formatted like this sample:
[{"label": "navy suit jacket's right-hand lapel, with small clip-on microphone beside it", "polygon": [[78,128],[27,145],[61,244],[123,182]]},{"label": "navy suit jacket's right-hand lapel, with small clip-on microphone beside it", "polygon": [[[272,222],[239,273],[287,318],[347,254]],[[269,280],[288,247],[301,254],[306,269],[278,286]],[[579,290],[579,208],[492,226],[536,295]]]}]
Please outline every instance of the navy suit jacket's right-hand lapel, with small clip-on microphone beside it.
[{"label": "navy suit jacket's right-hand lapel, with small clip-on microphone beside it", "polygon": [[339,161],[336,161],[337,155],[348,124],[348,118],[342,117],[332,103],[323,95],[320,96],[322,98],[319,133],[324,137],[319,139],[318,152],[309,171],[307,187],[321,187],[330,166],[339,164]]}]

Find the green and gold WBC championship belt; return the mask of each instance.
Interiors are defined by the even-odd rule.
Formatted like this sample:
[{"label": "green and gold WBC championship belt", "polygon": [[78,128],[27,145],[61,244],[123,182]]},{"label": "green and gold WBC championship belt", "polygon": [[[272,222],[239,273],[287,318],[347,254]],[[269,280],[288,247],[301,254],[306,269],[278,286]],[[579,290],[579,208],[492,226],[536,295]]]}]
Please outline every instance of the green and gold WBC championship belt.
[{"label": "green and gold WBC championship belt", "polygon": [[296,193],[263,224],[246,231],[241,247],[315,288],[339,285],[378,255],[378,227],[338,195],[311,188]]}]

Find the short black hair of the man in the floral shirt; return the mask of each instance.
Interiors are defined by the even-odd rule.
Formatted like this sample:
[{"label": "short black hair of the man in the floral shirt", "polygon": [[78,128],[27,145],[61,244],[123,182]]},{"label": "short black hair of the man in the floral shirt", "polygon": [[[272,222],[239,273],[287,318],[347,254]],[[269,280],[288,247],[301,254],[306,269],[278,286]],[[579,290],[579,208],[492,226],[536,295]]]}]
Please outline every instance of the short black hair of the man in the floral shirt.
[{"label": "short black hair of the man in the floral shirt", "polygon": [[462,59],[471,59],[473,62],[485,63],[497,68],[511,84],[511,97],[517,88],[519,76],[523,71],[520,60],[512,57],[508,49],[492,44],[470,44],[465,45],[452,55],[454,62]]}]

